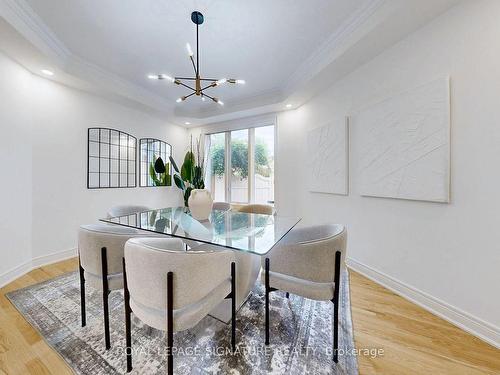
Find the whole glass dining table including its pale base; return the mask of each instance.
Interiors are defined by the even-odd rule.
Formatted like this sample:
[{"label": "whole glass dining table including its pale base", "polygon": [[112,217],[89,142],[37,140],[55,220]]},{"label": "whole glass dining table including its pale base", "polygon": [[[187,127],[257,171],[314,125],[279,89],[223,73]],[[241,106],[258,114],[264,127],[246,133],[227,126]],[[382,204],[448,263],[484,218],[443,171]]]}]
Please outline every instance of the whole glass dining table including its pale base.
[{"label": "whole glass dining table including its pale base", "polygon": [[[278,244],[300,218],[212,210],[208,220],[200,221],[194,219],[185,207],[168,207],[101,221],[181,238],[192,251],[207,249],[207,246],[234,250],[236,303],[239,308],[255,286],[261,257]],[[222,302],[210,315],[228,323],[231,319],[229,300]]]}]

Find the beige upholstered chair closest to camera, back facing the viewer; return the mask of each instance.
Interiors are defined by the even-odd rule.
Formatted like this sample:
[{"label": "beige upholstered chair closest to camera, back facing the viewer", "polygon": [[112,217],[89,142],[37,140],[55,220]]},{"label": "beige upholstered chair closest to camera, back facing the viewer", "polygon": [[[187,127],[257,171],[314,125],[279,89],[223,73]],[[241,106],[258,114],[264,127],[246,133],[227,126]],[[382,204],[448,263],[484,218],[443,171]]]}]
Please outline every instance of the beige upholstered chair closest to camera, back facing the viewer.
[{"label": "beige upholstered chair closest to camera, back facing the viewer", "polygon": [[168,373],[173,374],[173,333],[194,327],[215,306],[232,299],[232,349],[236,334],[236,277],[231,251],[181,251],[174,238],[134,238],[125,245],[127,372],[132,370],[130,313],[167,332]]}]

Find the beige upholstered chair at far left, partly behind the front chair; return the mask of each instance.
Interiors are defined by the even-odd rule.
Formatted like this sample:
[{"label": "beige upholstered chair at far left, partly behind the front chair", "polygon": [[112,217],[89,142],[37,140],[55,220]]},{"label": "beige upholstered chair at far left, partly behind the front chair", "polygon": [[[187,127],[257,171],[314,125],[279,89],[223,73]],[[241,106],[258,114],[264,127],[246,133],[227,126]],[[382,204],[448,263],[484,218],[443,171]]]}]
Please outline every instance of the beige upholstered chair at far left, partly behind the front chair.
[{"label": "beige upholstered chair at far left, partly behind the front chair", "polygon": [[108,294],[123,288],[122,258],[129,238],[144,232],[118,225],[82,225],[78,232],[82,327],[86,325],[85,284],[102,291],[104,308],[104,339],[111,347],[109,335]]}]

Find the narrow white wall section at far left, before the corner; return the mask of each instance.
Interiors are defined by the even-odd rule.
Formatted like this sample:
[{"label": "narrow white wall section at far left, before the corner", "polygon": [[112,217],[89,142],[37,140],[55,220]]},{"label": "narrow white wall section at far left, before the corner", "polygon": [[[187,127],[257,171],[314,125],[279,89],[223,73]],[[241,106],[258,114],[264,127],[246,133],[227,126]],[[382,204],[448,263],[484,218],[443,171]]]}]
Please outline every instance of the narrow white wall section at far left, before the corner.
[{"label": "narrow white wall section at far left, before the corner", "polygon": [[31,80],[30,73],[0,55],[0,279],[31,261],[32,151],[26,111]]}]

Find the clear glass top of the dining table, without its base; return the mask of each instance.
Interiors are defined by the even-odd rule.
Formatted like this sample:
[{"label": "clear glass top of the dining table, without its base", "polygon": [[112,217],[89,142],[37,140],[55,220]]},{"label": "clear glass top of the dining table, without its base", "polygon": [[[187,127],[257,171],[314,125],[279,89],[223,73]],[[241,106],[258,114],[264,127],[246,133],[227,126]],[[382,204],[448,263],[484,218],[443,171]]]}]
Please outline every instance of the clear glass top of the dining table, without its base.
[{"label": "clear glass top of the dining table, without its base", "polygon": [[300,218],[213,210],[199,221],[184,207],[169,207],[101,221],[264,255]]}]

